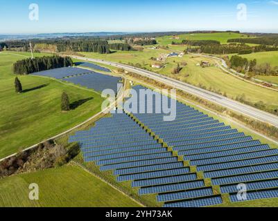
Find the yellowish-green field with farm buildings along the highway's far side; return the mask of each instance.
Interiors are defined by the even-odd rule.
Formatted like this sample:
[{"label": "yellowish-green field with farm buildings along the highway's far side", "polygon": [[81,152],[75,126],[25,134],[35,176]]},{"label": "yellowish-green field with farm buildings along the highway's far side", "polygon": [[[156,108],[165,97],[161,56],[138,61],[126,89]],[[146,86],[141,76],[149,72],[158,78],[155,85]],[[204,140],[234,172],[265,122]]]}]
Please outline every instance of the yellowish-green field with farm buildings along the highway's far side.
[{"label": "yellowish-green field with farm buildings along the highway's far side", "polygon": [[[150,51],[150,52],[149,52]],[[253,84],[237,79],[231,75],[223,73],[219,68],[211,66],[201,68],[196,64],[201,61],[209,61],[203,57],[184,55],[184,57],[168,58],[165,62],[164,68],[151,68],[153,61],[150,57],[159,56],[161,53],[166,53],[168,50],[149,50],[145,49],[144,52],[114,52],[110,55],[99,55],[97,53],[83,52],[82,54],[90,58],[99,58],[107,61],[116,61],[123,64],[140,64],[142,67],[148,68],[154,72],[186,81],[189,84],[202,86],[208,90],[219,91],[225,93],[227,97],[236,98],[237,96],[245,95],[246,99],[250,102],[257,103],[263,101],[270,109],[278,108],[278,100],[273,99],[277,97],[278,93],[273,90],[261,88]],[[177,63],[182,64],[186,62],[186,66],[177,75],[172,74],[173,68]]]}]

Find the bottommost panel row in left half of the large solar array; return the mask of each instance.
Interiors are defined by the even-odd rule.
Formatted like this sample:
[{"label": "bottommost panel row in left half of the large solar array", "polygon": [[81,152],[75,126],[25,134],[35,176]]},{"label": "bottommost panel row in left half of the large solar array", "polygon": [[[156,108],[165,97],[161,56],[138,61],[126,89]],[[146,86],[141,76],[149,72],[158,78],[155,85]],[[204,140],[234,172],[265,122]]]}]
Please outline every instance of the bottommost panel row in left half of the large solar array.
[{"label": "bottommost panel row in left half of the large solar array", "polygon": [[199,199],[199,200],[188,200],[184,202],[174,202],[165,204],[164,207],[202,207],[202,206],[212,206],[216,204],[222,204],[222,198],[220,196]]}]

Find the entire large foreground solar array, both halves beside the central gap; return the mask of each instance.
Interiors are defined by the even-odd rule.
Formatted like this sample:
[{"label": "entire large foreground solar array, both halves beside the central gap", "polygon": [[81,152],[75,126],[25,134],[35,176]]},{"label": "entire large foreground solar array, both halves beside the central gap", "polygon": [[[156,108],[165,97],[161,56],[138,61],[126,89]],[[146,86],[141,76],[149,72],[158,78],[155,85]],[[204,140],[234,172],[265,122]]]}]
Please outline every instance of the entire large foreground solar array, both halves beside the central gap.
[{"label": "entire large foreground solar array, both halves beside the central gap", "polygon": [[[139,94],[146,88],[134,89]],[[173,102],[165,96],[163,99],[168,104]],[[151,108],[142,99],[137,102],[146,113],[133,111],[132,117],[127,110],[115,113],[69,137],[69,142],[80,143],[85,162],[96,162],[101,171],[112,170],[118,182],[131,181],[132,187],[139,188],[139,195],[155,194],[157,202],[164,202],[166,207],[223,203],[196,171],[210,178],[211,184],[219,185],[221,193],[229,193],[232,202],[238,183],[246,183],[248,191],[267,191],[277,186],[277,149],[180,102],[175,101],[173,121],[164,121],[163,113],[147,113],[159,107],[155,101],[148,101]],[[152,131],[152,136],[141,124]],[[191,167],[184,166],[188,164]],[[252,193],[247,199],[268,198],[275,193]]]}]

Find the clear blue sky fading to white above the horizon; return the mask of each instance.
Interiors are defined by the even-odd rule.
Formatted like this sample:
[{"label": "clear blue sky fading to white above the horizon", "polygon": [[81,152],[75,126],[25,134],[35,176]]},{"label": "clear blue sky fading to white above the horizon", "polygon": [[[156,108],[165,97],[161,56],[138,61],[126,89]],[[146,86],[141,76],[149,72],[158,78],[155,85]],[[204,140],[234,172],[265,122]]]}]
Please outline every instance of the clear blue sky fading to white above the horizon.
[{"label": "clear blue sky fading to white above the horizon", "polygon": [[[278,0],[0,0],[0,34],[241,30],[278,32]],[[31,3],[39,20],[29,19]],[[246,19],[238,19],[244,3]]]}]

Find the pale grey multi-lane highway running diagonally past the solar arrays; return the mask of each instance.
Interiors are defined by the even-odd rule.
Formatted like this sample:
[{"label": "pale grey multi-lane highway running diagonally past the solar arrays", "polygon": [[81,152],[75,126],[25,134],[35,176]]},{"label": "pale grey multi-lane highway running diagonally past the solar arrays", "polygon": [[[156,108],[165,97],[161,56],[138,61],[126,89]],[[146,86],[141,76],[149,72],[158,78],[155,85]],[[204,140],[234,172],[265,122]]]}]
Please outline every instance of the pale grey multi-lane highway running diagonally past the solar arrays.
[{"label": "pale grey multi-lane highway running diagonally past the solar arrays", "polygon": [[[182,81],[178,81],[176,79],[172,79],[170,77],[166,77],[164,75],[159,75],[157,73],[150,72],[148,70],[143,70],[140,68],[135,68],[132,66],[128,66],[125,64],[119,64],[112,61],[104,61],[102,59],[92,59],[87,57],[79,57],[79,56],[71,56],[75,59],[80,59],[84,61],[92,61],[97,62],[99,64],[105,64],[109,66],[114,66],[117,68],[123,68],[132,73],[136,73],[138,75],[142,75],[144,77],[149,77],[150,79],[154,79],[155,81],[162,82],[173,88],[183,90],[186,93],[190,93],[192,95],[196,95],[198,97],[202,97],[202,99],[206,99],[209,102],[214,102],[215,104],[219,104],[224,106],[225,108],[229,108],[232,111],[236,111],[248,117],[252,117],[253,119],[257,119],[261,122],[266,122],[278,128],[278,116],[272,115],[271,113],[267,113],[265,111],[261,111],[257,108],[253,108],[252,106],[248,106],[245,104],[241,104],[240,102],[236,102],[232,99],[224,97],[222,95],[218,95],[216,93],[212,93],[209,90],[205,90],[202,88],[198,88],[196,86],[192,86],[190,84],[186,84]],[[275,97],[273,97],[275,99]]]}]

